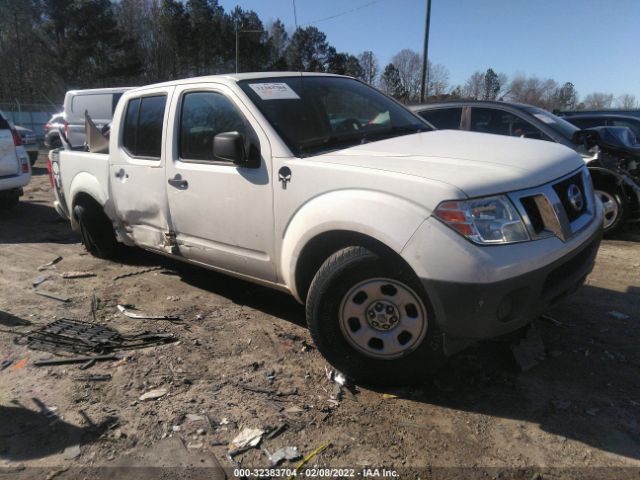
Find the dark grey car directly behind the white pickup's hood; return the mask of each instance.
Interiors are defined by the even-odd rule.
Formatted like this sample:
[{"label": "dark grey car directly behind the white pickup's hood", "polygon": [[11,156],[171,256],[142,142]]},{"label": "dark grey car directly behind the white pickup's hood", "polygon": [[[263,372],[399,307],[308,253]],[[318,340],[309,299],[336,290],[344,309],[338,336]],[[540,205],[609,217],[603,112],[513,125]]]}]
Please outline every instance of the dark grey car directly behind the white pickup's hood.
[{"label": "dark grey car directly behind the white pickup's hood", "polygon": [[[440,129],[460,129],[560,143],[574,149],[591,173],[604,206],[604,231],[640,220],[640,175],[630,166],[633,155],[612,159],[585,148],[580,129],[538,107],[509,102],[454,101],[416,105],[411,109]],[[596,149],[597,150],[597,149]],[[603,152],[604,153],[604,152]]]}]

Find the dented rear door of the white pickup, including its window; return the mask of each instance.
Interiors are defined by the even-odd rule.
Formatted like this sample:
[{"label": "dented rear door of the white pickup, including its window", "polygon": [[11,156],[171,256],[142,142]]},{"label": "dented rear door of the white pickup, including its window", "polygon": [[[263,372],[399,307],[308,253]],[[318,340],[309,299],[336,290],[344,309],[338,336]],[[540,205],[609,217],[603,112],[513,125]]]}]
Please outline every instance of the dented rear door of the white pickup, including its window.
[{"label": "dented rear door of the white pickup, including its window", "polygon": [[118,218],[138,245],[155,250],[166,249],[170,230],[164,168],[172,91],[154,89],[127,98],[114,125],[117,148],[110,154],[110,195]]}]

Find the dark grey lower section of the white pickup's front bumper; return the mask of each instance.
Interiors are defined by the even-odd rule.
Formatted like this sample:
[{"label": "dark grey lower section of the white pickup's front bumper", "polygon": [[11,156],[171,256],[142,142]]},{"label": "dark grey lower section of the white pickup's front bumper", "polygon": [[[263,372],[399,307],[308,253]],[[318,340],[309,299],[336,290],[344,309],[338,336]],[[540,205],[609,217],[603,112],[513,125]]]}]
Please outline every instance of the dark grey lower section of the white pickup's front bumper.
[{"label": "dark grey lower section of the white pickup's front bumper", "polygon": [[447,337],[477,340],[526,325],[584,283],[593,269],[601,236],[598,229],[555,262],[494,283],[423,279],[425,290],[437,297],[440,328]]}]

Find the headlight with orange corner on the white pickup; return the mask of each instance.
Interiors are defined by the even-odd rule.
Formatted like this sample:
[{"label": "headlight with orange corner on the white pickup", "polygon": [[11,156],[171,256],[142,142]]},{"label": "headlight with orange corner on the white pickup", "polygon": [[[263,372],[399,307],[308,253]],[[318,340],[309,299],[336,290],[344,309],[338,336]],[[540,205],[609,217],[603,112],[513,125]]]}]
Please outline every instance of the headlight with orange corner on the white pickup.
[{"label": "headlight with orange corner on the white pickup", "polygon": [[529,240],[522,218],[504,195],[442,202],[434,215],[475,243],[491,245]]}]

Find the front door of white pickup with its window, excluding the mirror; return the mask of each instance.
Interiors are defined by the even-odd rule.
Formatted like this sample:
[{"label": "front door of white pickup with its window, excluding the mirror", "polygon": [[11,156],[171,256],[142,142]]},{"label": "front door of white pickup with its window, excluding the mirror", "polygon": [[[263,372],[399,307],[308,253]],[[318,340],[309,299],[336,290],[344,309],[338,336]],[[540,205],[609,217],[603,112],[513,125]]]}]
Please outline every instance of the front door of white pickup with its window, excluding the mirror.
[{"label": "front door of white pickup with its window, excluding the mirror", "polygon": [[[180,254],[217,269],[276,280],[269,141],[228,87],[178,87],[172,103],[169,210]],[[215,158],[213,138],[240,132],[258,168]]]}]

